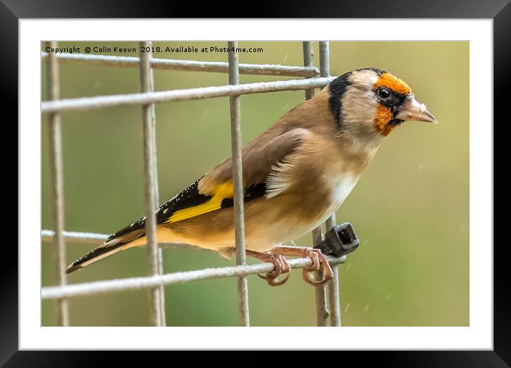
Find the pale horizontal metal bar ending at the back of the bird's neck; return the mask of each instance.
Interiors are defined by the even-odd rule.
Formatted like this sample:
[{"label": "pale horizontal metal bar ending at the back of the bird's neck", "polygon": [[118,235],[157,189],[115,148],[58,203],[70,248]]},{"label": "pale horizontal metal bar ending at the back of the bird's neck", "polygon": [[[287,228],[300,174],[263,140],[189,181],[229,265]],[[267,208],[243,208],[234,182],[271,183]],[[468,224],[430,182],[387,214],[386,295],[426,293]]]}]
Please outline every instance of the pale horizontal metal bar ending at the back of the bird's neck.
[{"label": "pale horizontal metal bar ending at the back of the bird's neck", "polygon": [[64,111],[91,110],[120,105],[145,105],[148,103],[200,100],[226,96],[247,95],[276,91],[298,91],[326,86],[330,78],[294,79],[290,81],[258,82],[237,84],[236,86],[214,86],[148,93],[129,93],[123,95],[70,98],[41,103],[41,113],[59,113]]}]

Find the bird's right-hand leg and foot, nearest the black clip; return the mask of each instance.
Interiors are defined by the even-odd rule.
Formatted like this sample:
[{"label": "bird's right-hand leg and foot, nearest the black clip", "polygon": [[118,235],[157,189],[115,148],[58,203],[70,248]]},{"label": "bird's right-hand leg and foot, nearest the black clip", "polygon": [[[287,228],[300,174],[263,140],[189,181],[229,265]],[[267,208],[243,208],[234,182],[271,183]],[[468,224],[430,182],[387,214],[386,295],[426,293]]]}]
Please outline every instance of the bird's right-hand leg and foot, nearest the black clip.
[{"label": "bird's right-hand leg and foot, nearest the black clip", "polygon": [[[313,265],[302,270],[302,277],[305,282],[313,286],[325,285],[332,280],[333,272],[327,257],[319,250],[309,247],[291,247],[288,245],[279,245],[271,250],[273,255],[300,255],[310,257]],[[320,281],[310,280],[309,271],[319,271],[323,266],[324,278]]]}]

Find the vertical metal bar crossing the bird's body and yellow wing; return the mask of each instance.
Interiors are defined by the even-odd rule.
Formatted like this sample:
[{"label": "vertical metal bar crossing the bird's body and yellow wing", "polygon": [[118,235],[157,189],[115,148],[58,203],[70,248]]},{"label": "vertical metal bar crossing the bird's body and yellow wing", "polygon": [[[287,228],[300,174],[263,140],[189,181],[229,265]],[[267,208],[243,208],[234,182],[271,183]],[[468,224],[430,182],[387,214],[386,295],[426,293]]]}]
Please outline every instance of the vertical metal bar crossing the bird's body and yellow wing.
[{"label": "vertical metal bar crossing the bird's body and yellow wing", "polygon": [[[238,41],[228,41],[229,51],[229,84],[239,84]],[[233,50],[233,48],[235,50]],[[231,96],[231,150],[233,154],[234,183],[234,226],[236,234],[236,264],[246,265],[245,252],[245,214],[243,208],[243,170],[241,167],[241,123],[240,96]],[[248,283],[247,277],[238,277],[238,306],[241,326],[249,326],[248,314]]]}]

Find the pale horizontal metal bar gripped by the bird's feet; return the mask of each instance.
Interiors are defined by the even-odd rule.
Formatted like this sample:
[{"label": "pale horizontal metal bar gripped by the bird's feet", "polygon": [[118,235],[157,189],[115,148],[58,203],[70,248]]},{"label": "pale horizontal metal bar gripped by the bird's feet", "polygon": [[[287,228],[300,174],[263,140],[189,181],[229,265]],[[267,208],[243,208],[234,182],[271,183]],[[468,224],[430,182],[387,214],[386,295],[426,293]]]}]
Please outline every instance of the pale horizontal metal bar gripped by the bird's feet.
[{"label": "pale horizontal metal bar gripped by the bird's feet", "polygon": [[[344,263],[346,256],[335,258],[328,257],[330,265]],[[295,258],[288,260],[291,268],[304,268],[312,265],[310,258]],[[275,268],[273,263],[258,263],[257,265],[241,265],[234,267],[206,268],[196,271],[173,272],[165,275],[130,277],[120,280],[103,280],[84,282],[65,286],[48,286],[41,288],[41,299],[54,300],[62,297],[79,297],[85,295],[97,295],[107,292],[123,290],[138,290],[159,285],[171,285],[181,282],[196,280],[211,280],[224,277],[238,277],[243,275],[255,275],[256,273],[270,272]]]}]

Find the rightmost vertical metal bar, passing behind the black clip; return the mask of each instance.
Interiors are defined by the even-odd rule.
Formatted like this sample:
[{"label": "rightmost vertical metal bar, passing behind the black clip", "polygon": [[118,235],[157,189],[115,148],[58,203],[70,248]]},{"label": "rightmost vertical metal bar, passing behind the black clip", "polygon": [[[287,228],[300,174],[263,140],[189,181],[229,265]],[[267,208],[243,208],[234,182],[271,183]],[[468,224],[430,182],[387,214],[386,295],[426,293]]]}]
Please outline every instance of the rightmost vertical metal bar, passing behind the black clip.
[{"label": "rightmost vertical metal bar, passing behind the black clip", "polygon": [[[320,41],[320,76],[330,76],[330,44],[328,41]],[[326,220],[326,230],[335,226],[335,213]],[[328,300],[330,302],[330,326],[340,327],[340,293],[339,293],[339,270],[332,267],[333,279],[328,284]]]}]

